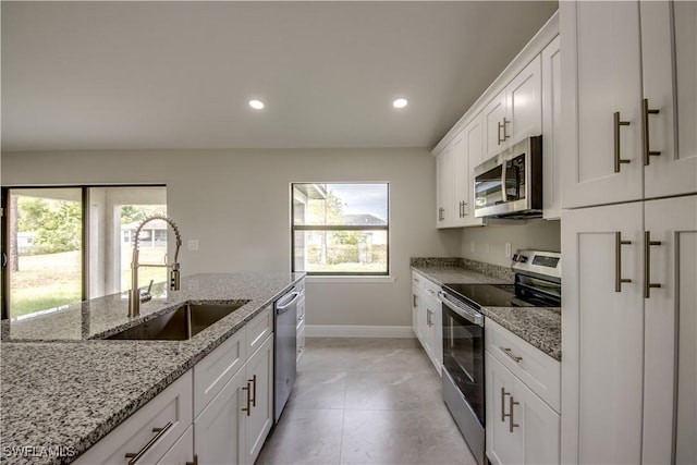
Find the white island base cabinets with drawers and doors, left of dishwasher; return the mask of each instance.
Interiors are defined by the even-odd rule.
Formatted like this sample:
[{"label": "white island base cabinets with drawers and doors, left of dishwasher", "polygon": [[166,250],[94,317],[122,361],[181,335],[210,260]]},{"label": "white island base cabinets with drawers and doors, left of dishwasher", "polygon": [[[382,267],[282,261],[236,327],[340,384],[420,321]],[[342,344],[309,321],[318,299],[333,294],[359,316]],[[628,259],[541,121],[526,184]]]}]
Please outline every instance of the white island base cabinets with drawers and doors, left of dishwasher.
[{"label": "white island base cabinets with drawers and doors, left of dishwasher", "polygon": [[269,307],[75,464],[254,464],[272,426]]}]

